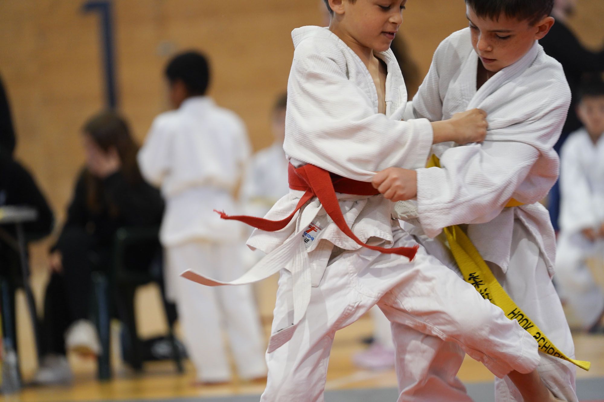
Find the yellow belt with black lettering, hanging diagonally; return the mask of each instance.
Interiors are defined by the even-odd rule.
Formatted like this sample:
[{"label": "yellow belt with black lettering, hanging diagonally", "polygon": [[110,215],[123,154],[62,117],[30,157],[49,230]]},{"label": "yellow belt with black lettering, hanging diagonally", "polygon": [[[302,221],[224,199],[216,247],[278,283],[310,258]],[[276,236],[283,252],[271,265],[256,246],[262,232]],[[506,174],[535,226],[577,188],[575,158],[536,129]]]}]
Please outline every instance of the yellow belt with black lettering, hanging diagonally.
[{"label": "yellow belt with black lettering, hanging diagonally", "polygon": [[[427,167],[439,167],[440,161],[436,155],[432,155],[428,161]],[[523,205],[515,199],[511,199],[506,207]],[[445,232],[449,249],[455,258],[457,266],[461,270],[461,274],[466,282],[474,286],[484,299],[489,300],[497,307],[504,311],[509,319],[518,321],[533,338],[537,340],[539,351],[550,356],[559,357],[562,360],[567,360],[574,365],[589,371],[591,363],[583,360],[574,360],[566,356],[556,345],[545,336],[543,331],[535,325],[527,314],[524,313],[516,303],[510,298],[506,291],[501,287],[495,275],[489,269],[489,266],[484,262],[480,253],[472,244],[472,241],[461,230],[458,225],[449,226],[443,229]]]}]

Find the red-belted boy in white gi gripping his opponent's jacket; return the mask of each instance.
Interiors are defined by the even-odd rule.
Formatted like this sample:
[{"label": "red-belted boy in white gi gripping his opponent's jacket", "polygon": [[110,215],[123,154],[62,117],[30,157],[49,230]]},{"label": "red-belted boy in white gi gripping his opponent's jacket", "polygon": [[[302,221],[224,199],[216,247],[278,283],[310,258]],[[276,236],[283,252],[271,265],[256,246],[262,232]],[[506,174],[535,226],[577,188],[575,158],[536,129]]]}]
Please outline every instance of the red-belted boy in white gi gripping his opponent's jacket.
[{"label": "red-belted boy in white gi gripping his opponent's jacket", "polygon": [[[423,247],[413,261],[402,257],[413,257],[417,243],[370,183],[386,167],[425,165],[433,143],[481,141],[484,113],[401,121],[406,90],[390,44],[406,2],[326,3],[329,28],[292,33],[284,141],[292,190],[267,215],[280,221],[224,215],[271,228],[248,241],[268,255],[235,281],[183,275],[219,286],[281,271],[263,401],[322,401],[335,332],[376,304],[391,322],[460,344],[496,375],[530,372],[527,401],[550,400],[535,377],[535,340]],[[415,364],[408,361],[409,369]],[[450,400],[448,394],[427,400],[438,398]]]}]

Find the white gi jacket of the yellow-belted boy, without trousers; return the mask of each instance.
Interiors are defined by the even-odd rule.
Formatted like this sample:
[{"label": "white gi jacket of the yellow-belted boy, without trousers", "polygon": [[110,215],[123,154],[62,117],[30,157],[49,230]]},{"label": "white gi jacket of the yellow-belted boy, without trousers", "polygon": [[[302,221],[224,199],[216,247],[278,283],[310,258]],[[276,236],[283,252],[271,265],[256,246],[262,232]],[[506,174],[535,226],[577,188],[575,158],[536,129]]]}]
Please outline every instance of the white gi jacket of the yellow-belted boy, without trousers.
[{"label": "white gi jacket of the yellow-belted boy, without trousers", "polygon": [[[539,203],[556,182],[553,150],[570,106],[562,66],[537,42],[513,65],[476,89],[478,55],[469,28],[437,48],[428,75],[406,118],[447,120],[478,107],[488,113],[483,144],[434,145],[439,168],[417,170],[417,211],[425,233],[463,223],[486,261],[507,271],[515,220],[532,234],[554,272],[556,241],[547,210]],[[511,199],[525,205],[504,208]]]}]

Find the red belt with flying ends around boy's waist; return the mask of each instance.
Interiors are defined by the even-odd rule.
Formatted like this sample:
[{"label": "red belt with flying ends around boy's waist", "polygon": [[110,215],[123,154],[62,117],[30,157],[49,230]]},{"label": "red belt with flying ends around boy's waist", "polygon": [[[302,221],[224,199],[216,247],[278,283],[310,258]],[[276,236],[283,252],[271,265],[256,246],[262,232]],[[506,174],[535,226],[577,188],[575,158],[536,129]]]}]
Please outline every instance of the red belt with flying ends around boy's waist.
[{"label": "red belt with flying ends around boy's waist", "polygon": [[336,174],[329,173],[329,171],[315,165],[303,165],[299,168],[294,168],[294,166],[290,164],[288,173],[289,188],[292,190],[304,191],[304,195],[298,202],[294,212],[292,212],[285,219],[275,221],[245,215],[229,216],[224,212],[216,212],[220,214],[222,219],[239,220],[240,222],[246,223],[249,226],[254,226],[254,228],[274,232],[287,226],[288,223],[294,218],[295,213],[298,212],[298,210],[302,208],[304,204],[312,199],[312,197],[317,197],[327,212],[327,215],[329,215],[329,217],[333,220],[333,223],[335,223],[345,235],[356,241],[356,243],[371,250],[377,250],[385,254],[404,255],[405,257],[409,258],[409,260],[413,260],[413,257],[415,257],[417,248],[419,246],[396,247],[390,249],[385,247],[370,246],[359,240],[359,238],[355,236],[355,234],[346,224],[344,215],[342,215],[342,210],[339,207],[336,192],[342,194],[353,194],[356,196],[375,196],[379,194],[379,191],[373,188],[371,183],[359,182],[356,180],[347,179],[346,177],[337,176]]}]

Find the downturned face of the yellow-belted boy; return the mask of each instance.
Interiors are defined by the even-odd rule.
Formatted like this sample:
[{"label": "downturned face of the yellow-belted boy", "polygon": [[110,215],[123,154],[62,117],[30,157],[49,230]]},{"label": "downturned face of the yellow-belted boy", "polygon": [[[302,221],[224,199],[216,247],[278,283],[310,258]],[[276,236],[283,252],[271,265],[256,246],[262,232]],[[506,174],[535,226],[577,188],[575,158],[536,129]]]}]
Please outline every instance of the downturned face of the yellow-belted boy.
[{"label": "downturned face of the yellow-belted boy", "polygon": [[466,16],[472,32],[472,46],[480,57],[484,68],[498,72],[524,56],[535,40],[541,39],[539,25],[519,21],[501,15],[498,21],[481,18],[471,7],[466,7]]}]

